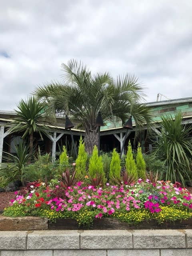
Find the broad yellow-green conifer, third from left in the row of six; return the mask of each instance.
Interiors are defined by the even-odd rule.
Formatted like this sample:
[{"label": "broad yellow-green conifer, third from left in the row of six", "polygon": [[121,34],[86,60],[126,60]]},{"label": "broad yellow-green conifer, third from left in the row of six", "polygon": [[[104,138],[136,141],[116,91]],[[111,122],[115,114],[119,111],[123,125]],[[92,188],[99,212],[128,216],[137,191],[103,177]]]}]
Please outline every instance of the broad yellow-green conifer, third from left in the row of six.
[{"label": "broad yellow-green conifer, third from left in the row of six", "polygon": [[103,182],[105,180],[105,173],[103,170],[102,156],[98,156],[98,149],[96,145],[93,148],[92,156],[89,160],[89,175],[92,178],[96,178],[96,174],[98,176],[102,175]]}]

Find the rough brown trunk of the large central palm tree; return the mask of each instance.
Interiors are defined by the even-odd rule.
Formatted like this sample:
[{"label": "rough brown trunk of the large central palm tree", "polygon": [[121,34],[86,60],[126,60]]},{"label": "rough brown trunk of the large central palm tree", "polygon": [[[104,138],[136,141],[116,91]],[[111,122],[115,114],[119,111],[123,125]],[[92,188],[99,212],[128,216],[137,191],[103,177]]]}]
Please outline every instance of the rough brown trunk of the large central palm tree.
[{"label": "rough brown trunk of the large central palm tree", "polygon": [[86,130],[84,142],[86,152],[92,154],[94,145],[98,146],[98,132],[96,130]]}]

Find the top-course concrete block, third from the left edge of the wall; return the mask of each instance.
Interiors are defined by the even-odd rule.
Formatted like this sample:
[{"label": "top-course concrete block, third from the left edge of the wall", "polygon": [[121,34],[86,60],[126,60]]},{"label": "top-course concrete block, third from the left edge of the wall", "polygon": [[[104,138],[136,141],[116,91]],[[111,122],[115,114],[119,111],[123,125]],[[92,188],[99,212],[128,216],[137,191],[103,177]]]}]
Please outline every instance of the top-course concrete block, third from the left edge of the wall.
[{"label": "top-course concrete block, third from the left edge of the wall", "polygon": [[133,248],[132,233],[128,230],[84,230],[80,235],[81,249]]}]

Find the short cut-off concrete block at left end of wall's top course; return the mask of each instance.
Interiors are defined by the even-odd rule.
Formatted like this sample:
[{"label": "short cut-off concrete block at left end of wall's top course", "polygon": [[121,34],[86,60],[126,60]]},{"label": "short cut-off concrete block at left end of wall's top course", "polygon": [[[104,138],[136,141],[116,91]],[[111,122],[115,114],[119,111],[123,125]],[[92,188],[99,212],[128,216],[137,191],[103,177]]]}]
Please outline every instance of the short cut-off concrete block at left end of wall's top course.
[{"label": "short cut-off concrete block at left end of wall's top course", "polygon": [[26,240],[26,231],[0,231],[0,250],[24,250]]}]

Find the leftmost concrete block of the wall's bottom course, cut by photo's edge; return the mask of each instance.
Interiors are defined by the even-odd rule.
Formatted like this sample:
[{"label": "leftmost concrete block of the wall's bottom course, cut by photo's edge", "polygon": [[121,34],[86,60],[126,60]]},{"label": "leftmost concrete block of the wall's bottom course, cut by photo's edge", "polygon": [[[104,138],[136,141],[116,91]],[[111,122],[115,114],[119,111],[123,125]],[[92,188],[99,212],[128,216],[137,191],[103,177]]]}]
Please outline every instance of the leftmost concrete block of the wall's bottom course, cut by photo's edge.
[{"label": "leftmost concrete block of the wall's bottom course, cut by photo's edge", "polygon": [[1,256],[52,256],[52,250],[1,251]]}]

